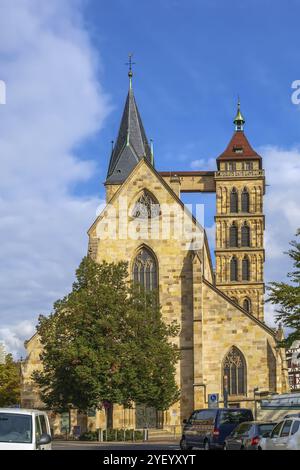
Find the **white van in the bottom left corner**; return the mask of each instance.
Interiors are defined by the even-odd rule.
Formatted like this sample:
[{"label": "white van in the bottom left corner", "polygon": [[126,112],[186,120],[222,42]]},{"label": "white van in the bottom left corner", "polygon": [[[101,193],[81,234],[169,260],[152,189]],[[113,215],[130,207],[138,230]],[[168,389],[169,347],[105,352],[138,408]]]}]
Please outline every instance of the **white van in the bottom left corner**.
[{"label": "white van in the bottom left corner", "polygon": [[0,408],[0,450],[51,450],[47,413]]}]

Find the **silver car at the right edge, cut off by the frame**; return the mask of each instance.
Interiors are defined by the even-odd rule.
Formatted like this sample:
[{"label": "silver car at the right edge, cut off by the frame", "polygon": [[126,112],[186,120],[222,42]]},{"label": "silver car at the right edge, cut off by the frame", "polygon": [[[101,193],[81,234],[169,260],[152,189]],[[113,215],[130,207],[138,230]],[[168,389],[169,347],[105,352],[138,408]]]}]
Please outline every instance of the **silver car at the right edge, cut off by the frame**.
[{"label": "silver car at the right edge, cut off by the frame", "polygon": [[262,450],[300,450],[300,418],[289,417],[263,436]]}]

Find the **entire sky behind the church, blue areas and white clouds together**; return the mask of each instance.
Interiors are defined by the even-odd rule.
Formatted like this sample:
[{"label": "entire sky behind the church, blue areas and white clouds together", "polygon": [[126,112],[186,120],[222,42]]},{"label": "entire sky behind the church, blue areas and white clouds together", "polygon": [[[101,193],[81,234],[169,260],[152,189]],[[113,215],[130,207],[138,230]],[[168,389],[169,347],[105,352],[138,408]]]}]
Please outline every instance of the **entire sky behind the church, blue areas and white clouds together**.
[{"label": "entire sky behind the church, blue areas and white clouds together", "polygon": [[[214,169],[245,132],[266,169],[266,281],[300,225],[300,4],[278,0],[0,0],[0,341],[15,355],[65,295],[104,199],[111,140],[134,91],[158,170]],[[205,203],[213,250],[214,196]],[[274,309],[266,306],[274,324]]]}]

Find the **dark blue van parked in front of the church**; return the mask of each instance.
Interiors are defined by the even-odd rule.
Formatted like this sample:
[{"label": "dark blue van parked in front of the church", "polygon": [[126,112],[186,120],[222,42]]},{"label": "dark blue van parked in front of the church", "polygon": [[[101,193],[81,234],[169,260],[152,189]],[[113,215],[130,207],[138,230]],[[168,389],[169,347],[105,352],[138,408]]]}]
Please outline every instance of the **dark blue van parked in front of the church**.
[{"label": "dark blue van parked in front of the church", "polygon": [[180,447],[223,449],[226,437],[242,422],[253,421],[251,410],[245,408],[219,408],[195,410],[184,428]]}]

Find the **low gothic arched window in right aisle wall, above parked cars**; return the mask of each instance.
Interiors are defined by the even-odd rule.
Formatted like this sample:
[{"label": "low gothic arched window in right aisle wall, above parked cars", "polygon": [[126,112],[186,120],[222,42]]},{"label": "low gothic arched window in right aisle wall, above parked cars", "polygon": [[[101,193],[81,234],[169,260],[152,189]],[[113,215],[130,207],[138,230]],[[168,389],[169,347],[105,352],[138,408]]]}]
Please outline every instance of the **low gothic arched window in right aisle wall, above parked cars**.
[{"label": "low gothic arched window in right aisle wall, above parked cars", "polygon": [[223,385],[228,395],[246,394],[246,361],[241,351],[232,346],[223,362]]}]

